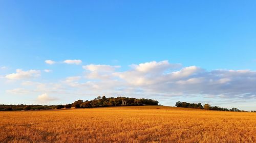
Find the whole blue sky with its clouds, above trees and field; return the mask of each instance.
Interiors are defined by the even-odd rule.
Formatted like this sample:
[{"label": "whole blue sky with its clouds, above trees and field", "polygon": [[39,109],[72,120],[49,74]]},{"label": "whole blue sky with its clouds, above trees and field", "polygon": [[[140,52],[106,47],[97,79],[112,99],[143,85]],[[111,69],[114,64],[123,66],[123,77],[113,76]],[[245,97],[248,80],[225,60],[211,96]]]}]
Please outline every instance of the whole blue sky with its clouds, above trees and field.
[{"label": "whole blue sky with its clouds, above trees and field", "polygon": [[[255,5],[1,1],[0,103],[118,94],[172,106],[181,100],[255,109]],[[181,71],[186,76],[177,76]]]}]

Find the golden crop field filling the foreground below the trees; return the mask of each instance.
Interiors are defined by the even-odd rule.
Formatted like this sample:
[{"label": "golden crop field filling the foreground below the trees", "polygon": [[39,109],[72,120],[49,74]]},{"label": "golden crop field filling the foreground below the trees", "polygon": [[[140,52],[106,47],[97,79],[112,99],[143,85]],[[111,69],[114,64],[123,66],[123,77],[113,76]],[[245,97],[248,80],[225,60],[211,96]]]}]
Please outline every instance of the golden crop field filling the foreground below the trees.
[{"label": "golden crop field filling the foreground below the trees", "polygon": [[256,142],[253,112],[125,106],[0,117],[0,142]]}]

